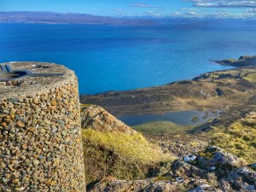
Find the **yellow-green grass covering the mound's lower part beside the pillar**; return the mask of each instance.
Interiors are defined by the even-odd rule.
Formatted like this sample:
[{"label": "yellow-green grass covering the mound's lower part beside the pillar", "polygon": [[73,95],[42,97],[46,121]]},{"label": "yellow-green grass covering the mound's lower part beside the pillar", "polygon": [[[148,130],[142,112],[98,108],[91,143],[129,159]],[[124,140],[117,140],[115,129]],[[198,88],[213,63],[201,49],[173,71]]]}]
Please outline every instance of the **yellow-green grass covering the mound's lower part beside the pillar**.
[{"label": "yellow-green grass covering the mound's lower part beside the pillar", "polygon": [[86,182],[101,177],[136,179],[146,177],[148,171],[162,162],[175,158],[163,154],[160,148],[148,143],[139,134],[83,130]]}]

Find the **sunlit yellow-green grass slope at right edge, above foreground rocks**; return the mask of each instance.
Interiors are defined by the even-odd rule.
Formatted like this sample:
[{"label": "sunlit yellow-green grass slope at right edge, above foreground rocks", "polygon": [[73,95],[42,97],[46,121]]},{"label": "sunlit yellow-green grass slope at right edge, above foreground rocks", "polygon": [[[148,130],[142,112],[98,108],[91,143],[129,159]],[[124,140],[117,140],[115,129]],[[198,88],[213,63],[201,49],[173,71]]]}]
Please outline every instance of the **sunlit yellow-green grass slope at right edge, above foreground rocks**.
[{"label": "sunlit yellow-green grass slope at right edge, above foreground rocks", "polygon": [[255,162],[256,154],[256,114],[240,119],[228,127],[214,128],[212,145],[224,148],[232,154],[246,160]]}]

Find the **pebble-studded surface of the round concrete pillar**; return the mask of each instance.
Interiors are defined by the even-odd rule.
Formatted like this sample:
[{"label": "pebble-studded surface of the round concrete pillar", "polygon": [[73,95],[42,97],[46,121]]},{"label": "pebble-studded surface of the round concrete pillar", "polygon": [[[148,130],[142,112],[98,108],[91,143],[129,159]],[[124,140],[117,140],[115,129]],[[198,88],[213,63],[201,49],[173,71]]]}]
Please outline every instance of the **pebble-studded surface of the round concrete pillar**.
[{"label": "pebble-studded surface of the round concrete pillar", "polygon": [[0,191],[85,191],[76,76],[48,63],[11,67],[42,65],[65,75],[0,83]]}]

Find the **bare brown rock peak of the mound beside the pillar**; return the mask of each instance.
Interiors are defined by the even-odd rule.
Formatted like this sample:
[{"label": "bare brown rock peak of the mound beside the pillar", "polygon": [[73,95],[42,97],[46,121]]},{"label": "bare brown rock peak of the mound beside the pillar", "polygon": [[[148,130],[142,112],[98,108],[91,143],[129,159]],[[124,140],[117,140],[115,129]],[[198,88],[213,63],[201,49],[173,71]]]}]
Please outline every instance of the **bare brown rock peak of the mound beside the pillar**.
[{"label": "bare brown rock peak of the mound beside the pillar", "polygon": [[119,119],[113,117],[112,114],[96,105],[82,106],[81,120],[83,129],[92,128],[97,131],[119,131],[127,134],[136,132]]}]

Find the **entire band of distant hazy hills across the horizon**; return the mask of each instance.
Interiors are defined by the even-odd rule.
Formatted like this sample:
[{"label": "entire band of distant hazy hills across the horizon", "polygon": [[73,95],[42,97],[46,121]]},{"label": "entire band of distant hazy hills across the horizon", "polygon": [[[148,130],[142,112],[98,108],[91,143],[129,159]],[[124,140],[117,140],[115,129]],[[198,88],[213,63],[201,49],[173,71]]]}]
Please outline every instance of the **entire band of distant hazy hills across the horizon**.
[{"label": "entire band of distant hazy hills across the horizon", "polygon": [[172,28],[247,28],[255,29],[256,20],[181,18],[181,17],[109,17],[79,13],[0,12],[0,23],[79,24],[108,26],[168,26]]}]

